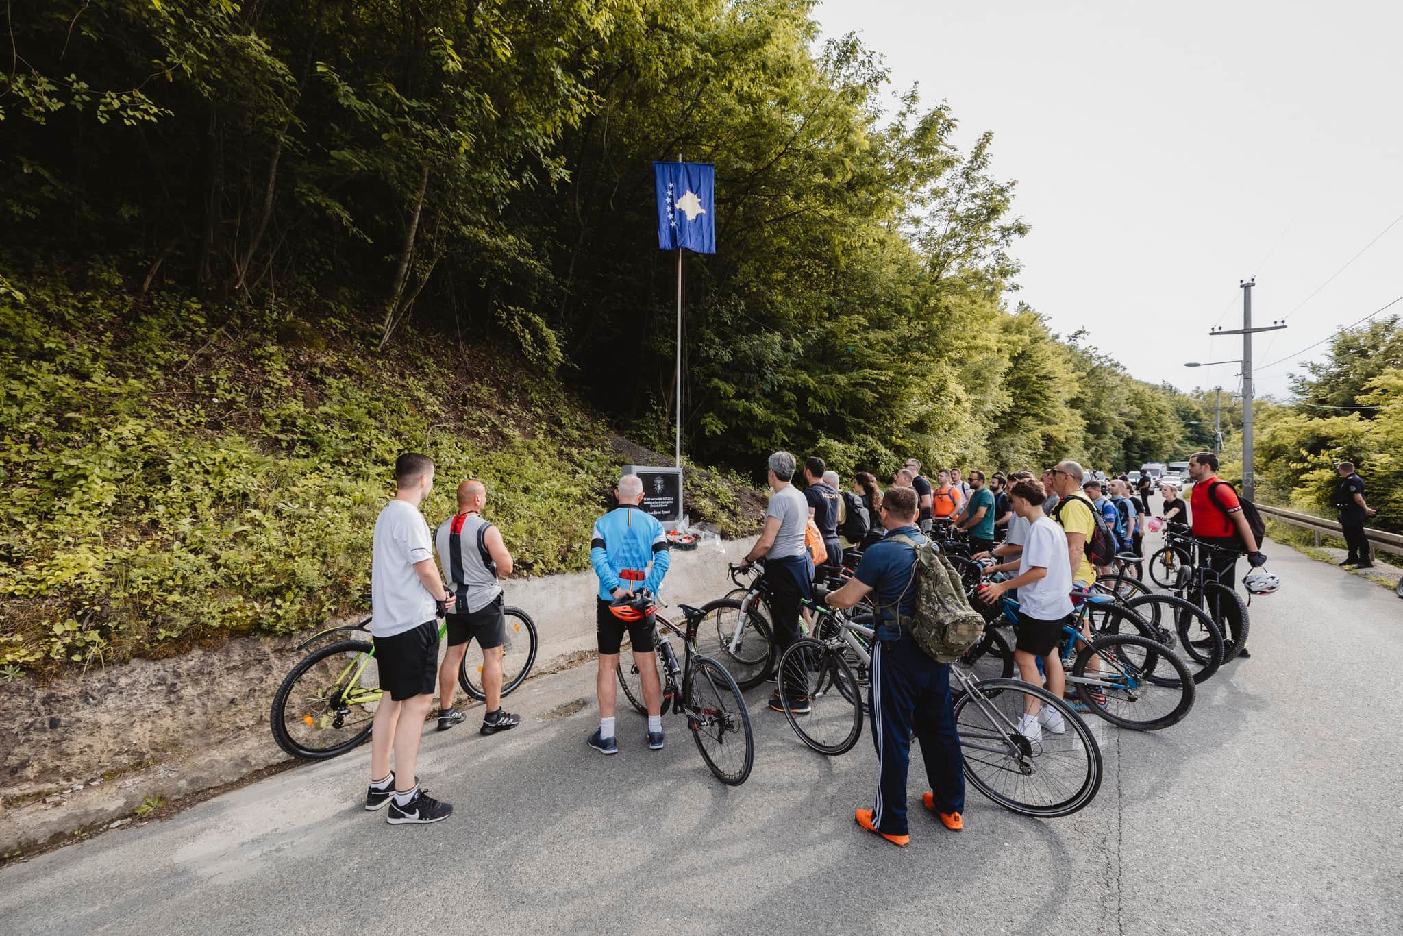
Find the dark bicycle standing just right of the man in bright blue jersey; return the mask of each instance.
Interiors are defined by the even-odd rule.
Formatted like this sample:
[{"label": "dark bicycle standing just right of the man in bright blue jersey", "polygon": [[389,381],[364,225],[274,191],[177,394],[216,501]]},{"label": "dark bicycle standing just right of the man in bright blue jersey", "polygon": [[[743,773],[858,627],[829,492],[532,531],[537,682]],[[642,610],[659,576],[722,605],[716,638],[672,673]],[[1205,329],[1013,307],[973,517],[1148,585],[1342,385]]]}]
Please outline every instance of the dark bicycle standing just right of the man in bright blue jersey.
[{"label": "dark bicycle standing just right of the man in bright blue jersey", "polygon": [[[702,752],[702,759],[721,783],[739,786],[751,776],[755,765],[755,735],[751,731],[751,713],[745,707],[741,688],[731,674],[710,657],[696,650],[696,636],[707,608],[678,605],[685,619],[685,627],[658,613],[657,602],[648,591],[626,595],[615,602],[620,608],[633,608],[652,622],[652,640],[658,654],[658,676],[662,681],[662,711],[669,709],[687,717],[692,740]],[[678,662],[669,634],[682,639],[685,657]],[[643,703],[643,676],[633,660],[633,648],[627,657],[619,655],[619,683],[636,709],[647,714]],[[723,761],[725,762],[723,765]]]}]

